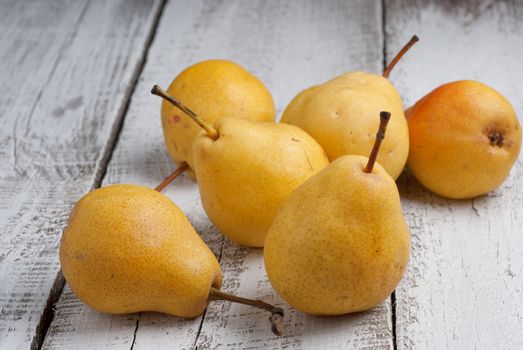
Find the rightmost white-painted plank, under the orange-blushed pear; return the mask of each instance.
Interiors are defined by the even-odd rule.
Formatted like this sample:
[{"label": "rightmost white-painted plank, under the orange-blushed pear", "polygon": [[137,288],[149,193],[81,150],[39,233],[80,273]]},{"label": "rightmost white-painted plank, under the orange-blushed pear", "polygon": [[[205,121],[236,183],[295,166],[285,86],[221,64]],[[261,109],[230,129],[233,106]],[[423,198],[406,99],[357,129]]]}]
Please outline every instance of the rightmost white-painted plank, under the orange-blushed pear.
[{"label": "rightmost white-painted plank, under the orange-blushed pear", "polygon": [[[391,75],[406,106],[442,83],[482,81],[523,122],[523,4],[387,1],[387,57],[413,33],[421,41]],[[475,200],[452,201],[412,176],[400,191],[412,258],[396,291],[398,349],[523,348],[523,167]]]}]

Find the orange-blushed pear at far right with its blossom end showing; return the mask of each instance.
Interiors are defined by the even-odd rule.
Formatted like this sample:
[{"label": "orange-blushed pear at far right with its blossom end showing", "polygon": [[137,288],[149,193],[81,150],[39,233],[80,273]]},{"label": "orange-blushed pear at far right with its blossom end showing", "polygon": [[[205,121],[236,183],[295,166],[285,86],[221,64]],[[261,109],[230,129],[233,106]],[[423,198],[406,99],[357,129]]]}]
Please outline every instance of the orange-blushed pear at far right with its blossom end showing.
[{"label": "orange-blushed pear at far right with its blossom end showing", "polygon": [[510,103],[477,81],[444,84],[407,111],[408,167],[432,192],[472,198],[500,186],[521,147]]}]

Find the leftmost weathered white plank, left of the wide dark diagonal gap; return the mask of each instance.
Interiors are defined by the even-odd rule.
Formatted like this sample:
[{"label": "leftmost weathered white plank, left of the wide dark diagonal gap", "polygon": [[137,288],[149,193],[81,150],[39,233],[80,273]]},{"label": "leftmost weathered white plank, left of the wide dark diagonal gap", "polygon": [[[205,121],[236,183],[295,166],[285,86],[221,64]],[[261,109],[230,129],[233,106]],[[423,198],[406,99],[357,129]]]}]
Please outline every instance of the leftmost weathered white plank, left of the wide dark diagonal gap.
[{"label": "leftmost weathered white plank, left of the wide dark diagonal gap", "polygon": [[0,3],[0,348],[41,343],[61,228],[104,170],[158,7]]}]

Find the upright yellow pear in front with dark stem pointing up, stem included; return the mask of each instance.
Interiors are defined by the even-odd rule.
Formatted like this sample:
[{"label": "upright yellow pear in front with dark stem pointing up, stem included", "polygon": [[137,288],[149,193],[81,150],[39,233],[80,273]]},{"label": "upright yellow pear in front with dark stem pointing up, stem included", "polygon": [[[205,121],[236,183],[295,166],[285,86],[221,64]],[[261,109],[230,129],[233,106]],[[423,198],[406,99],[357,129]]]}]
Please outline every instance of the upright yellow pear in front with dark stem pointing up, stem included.
[{"label": "upright yellow pear in front with dark stem pointing up, stem included", "polygon": [[397,286],[410,237],[394,180],[374,164],[390,114],[370,158],[349,155],[299,186],[269,229],[265,269],[297,310],[340,315],[370,309]]}]

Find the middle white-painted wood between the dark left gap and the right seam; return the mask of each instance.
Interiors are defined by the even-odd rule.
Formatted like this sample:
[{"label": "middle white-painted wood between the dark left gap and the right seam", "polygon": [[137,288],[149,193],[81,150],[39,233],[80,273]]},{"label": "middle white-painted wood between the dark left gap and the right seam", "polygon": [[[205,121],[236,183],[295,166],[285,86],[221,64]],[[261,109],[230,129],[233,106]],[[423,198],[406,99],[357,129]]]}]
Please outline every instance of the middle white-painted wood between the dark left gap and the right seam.
[{"label": "middle white-painted wood between the dark left gap and the right seam", "polygon": [[[382,70],[380,6],[378,1],[170,1],[104,184],[127,182],[153,187],[175,168],[163,144],[160,101],[149,93],[153,84],[167,87],[192,63],[227,58],[261,78],[281,112],[309,85],[348,70]],[[182,176],[165,193],[185,211],[221,258],[223,289],[285,307],[287,333],[282,338],[274,336],[264,312],[216,302],[209,307],[203,325],[202,317],[182,320],[141,313],[133,349],[392,348],[388,300],[370,312],[352,316],[322,318],[297,313],[270,287],[262,251],[224,240],[209,223],[195,183]],[[136,323],[124,316],[107,316],[100,322],[101,316],[82,306],[67,289],[56,307],[46,349],[103,348],[120,339],[122,330],[129,333],[136,328]],[[65,328],[71,324],[75,326]]]}]

